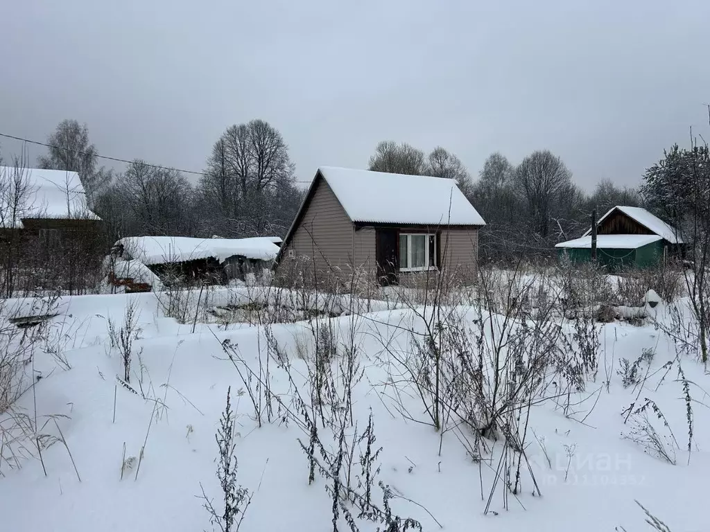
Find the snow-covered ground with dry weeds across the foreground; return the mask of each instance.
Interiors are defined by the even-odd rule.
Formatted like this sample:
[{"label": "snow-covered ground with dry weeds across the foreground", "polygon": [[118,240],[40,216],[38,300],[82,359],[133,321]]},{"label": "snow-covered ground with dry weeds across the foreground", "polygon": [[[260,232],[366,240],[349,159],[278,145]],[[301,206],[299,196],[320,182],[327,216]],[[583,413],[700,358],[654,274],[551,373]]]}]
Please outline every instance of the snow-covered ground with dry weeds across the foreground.
[{"label": "snow-covered ground with dry weeds across the foreground", "polygon": [[[243,295],[252,297],[253,292]],[[54,353],[38,349],[32,365],[25,368],[28,375],[35,372],[42,378],[28,387],[11,411],[0,415],[5,430],[0,442],[0,528],[219,529],[209,522],[200,497],[204,488],[219,507],[215,433],[231,387],[238,433],[237,480],[252,495],[240,529],[332,530],[333,503],[325,489],[332,480],[316,470],[315,481],[308,482],[309,460],[299,440],[307,445],[309,434],[300,426],[302,414],[294,401],[297,388],[307,410],[314,412],[308,376],[314,372],[317,327],[334,331],[334,343],[339,345],[331,365],[333,382],[342,384],[338,368],[345,366],[347,350],[356,352],[355,373],[361,378],[355,379],[352,390],[351,419],[342,412],[336,417],[346,420],[349,447],[372,413],[375,447],[382,448],[373,501],[382,506],[377,485],[381,480],[391,489],[395,514],[420,521],[423,530],[599,532],[616,526],[629,532],[649,530],[635,500],[672,531],[708,529],[704,488],[710,473],[710,398],[704,390],[710,389],[709,377],[694,355],[677,358],[673,340],[662,329],[650,323],[597,326],[599,370],[596,378],[586,377],[582,391],[567,394],[550,377],[552,372],[542,372],[550,378],[535,384],[535,397],[520,409],[522,419],[514,420],[520,427],[518,436],[524,436],[527,460],[521,460],[520,484],[512,489],[520,453],[512,452],[498,434],[496,440],[481,440],[474,453],[479,459],[472,459],[466,450],[476,439],[471,431],[458,419],[444,421],[443,434],[435,431],[416,387],[398,362],[415,353],[410,331],[424,333],[422,316],[427,313],[385,310],[388,304],[371,303],[367,309],[356,306],[356,314],[343,313],[349,316],[225,330],[217,324],[194,324],[192,319],[180,324],[165,317],[165,305],[155,294],[62,298],[53,306],[58,314],[48,325],[53,340],[44,348]],[[4,316],[31,305],[31,300],[8,301]],[[354,303],[341,302],[344,309],[349,305]],[[119,383],[124,377],[121,348],[111,346],[129,307],[136,311],[129,384],[133,391]],[[473,307],[457,312],[461,331],[470,328],[472,339],[476,331],[485,330],[481,320],[496,327],[504,323],[501,316],[484,316]],[[654,314],[670,326],[665,307]],[[574,324],[564,323],[562,335],[573,338]],[[515,333],[511,340],[522,336]],[[533,344],[528,348],[538,345]],[[480,345],[473,341],[467,348]],[[58,365],[57,351],[70,369]],[[228,353],[239,360],[229,360]],[[648,355],[650,364],[643,360],[638,364],[636,380],[643,382],[624,387],[618,374],[621,359],[633,363],[643,353],[653,353],[652,358]],[[288,366],[283,365],[283,355]],[[533,355],[525,352],[521,363],[529,364]],[[679,362],[684,377],[679,375]],[[507,363],[498,360],[499,365]],[[518,370],[510,371],[508,384],[513,385]],[[491,367],[484,367],[484,374],[491,377]],[[261,426],[250,398],[266,397],[263,387],[256,387],[258,378],[268,381],[273,394],[271,422],[266,399],[257,401]],[[690,453],[684,382],[692,397]],[[648,419],[660,438],[668,438],[663,445],[675,456],[675,465],[623,436],[632,430],[633,419],[643,419],[642,413],[624,422],[632,404],[632,414],[649,405]],[[337,412],[339,406],[328,404],[324,410]],[[654,406],[668,427],[658,421]],[[36,445],[21,438],[17,429],[10,430],[20,412],[30,419],[36,416],[37,433],[59,439],[42,449],[41,461]],[[333,427],[321,425],[318,421],[324,448],[337,453]],[[353,478],[361,473],[359,449],[362,445],[356,444]],[[357,523],[361,531],[377,528],[367,521]],[[342,515],[338,529],[349,529]]]}]

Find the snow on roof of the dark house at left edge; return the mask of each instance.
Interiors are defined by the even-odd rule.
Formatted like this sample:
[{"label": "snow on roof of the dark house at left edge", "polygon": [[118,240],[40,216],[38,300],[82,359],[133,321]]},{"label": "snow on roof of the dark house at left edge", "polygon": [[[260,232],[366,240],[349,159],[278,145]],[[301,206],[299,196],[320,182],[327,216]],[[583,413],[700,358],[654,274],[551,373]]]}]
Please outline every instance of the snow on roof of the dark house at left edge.
[{"label": "snow on roof of the dark house at left edge", "polygon": [[4,213],[13,211],[13,197],[19,199],[17,214],[14,219],[0,218],[0,226],[21,228],[23,218],[101,219],[89,211],[77,172],[0,166],[0,207]]}]

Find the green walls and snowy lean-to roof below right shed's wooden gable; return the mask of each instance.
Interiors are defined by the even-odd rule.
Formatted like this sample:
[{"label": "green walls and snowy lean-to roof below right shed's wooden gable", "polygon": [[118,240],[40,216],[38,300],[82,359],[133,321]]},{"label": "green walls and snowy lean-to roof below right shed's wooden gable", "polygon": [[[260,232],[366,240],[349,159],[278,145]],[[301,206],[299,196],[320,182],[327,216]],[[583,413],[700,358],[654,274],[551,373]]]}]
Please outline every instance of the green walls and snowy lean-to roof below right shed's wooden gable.
[{"label": "green walls and snowy lean-to roof below right shed's wooden gable", "polygon": [[[560,259],[591,262],[591,236],[559,243],[555,246]],[[599,235],[596,238],[596,260],[608,270],[656,265],[663,256],[663,239],[658,235]]]}]

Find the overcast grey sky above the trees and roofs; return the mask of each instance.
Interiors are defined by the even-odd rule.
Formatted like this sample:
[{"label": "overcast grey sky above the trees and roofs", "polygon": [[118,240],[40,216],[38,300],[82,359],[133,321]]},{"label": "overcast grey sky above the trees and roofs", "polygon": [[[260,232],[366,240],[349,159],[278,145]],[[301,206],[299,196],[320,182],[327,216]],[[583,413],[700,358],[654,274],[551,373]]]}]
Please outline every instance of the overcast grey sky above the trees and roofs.
[{"label": "overcast grey sky above the trees and roofs", "polygon": [[[263,118],[299,179],[366,167],[379,140],[457,153],[547,148],[585,189],[637,184],[707,133],[710,2],[6,1],[0,133],[87,123],[99,153],[202,170]],[[4,155],[21,146],[0,139]],[[37,150],[33,148],[34,157]]]}]

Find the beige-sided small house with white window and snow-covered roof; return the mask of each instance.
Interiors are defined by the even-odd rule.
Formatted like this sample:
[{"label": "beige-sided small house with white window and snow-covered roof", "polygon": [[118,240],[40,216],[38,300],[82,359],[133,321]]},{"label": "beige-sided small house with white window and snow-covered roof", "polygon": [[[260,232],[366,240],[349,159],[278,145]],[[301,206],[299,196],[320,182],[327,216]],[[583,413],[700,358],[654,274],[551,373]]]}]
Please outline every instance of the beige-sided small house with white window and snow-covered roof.
[{"label": "beige-sided small house with white window and snow-covered roof", "polygon": [[[396,284],[420,272],[473,275],[484,219],[454,179],[320,167],[276,259]],[[300,261],[296,261],[299,259]]]}]

